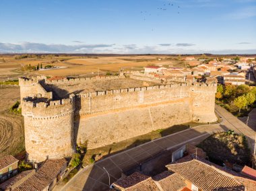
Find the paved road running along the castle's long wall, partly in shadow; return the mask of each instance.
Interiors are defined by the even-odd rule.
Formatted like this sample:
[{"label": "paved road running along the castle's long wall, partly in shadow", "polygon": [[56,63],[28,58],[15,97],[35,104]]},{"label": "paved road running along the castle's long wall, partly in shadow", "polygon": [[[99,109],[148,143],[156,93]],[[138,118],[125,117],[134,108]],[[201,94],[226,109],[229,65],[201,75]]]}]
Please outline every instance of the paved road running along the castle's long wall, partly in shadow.
[{"label": "paved road running along the castle's long wall, partly in shadow", "polygon": [[141,161],[145,161],[165,149],[175,149],[186,143],[197,144],[213,132],[232,129],[243,133],[249,140],[249,145],[253,148],[254,130],[220,106],[216,106],[216,112],[222,116],[223,121],[220,124],[196,126],[108,157],[82,169],[63,188],[57,187],[55,190],[107,190],[109,188],[108,174],[103,167],[110,174],[111,184],[121,178],[123,171],[138,165]]}]

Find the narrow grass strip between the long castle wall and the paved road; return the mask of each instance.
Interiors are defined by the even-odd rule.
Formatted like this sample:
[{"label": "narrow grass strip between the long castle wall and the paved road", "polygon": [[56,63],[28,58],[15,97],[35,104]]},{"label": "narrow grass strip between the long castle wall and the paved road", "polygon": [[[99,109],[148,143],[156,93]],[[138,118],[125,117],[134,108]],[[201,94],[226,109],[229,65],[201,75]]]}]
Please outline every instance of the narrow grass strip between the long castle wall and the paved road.
[{"label": "narrow grass strip between the long castle wall and the paved road", "polygon": [[120,151],[124,151],[127,149],[131,149],[133,147],[137,147],[143,143],[147,143],[154,139],[158,139],[160,137],[164,137],[166,135],[171,135],[175,132],[179,132],[181,130],[188,129],[189,127],[198,126],[202,123],[197,122],[188,122],[185,124],[179,124],[171,126],[170,128],[158,129],[152,132],[149,132],[145,135],[140,135],[137,137],[133,137],[131,139],[127,139],[125,141],[121,141],[119,143],[113,143],[111,145],[106,145],[104,147],[99,147],[96,149],[88,149],[86,155],[84,156],[83,163],[84,165],[88,165],[93,163],[94,161],[98,161],[104,157],[108,157],[115,153],[119,153]]}]

